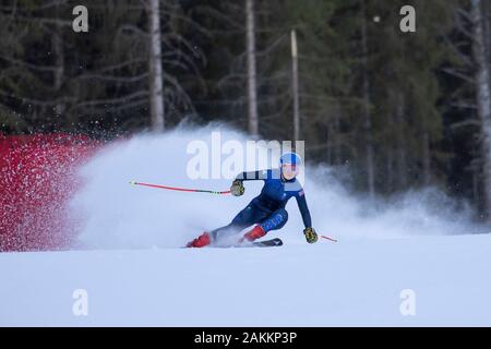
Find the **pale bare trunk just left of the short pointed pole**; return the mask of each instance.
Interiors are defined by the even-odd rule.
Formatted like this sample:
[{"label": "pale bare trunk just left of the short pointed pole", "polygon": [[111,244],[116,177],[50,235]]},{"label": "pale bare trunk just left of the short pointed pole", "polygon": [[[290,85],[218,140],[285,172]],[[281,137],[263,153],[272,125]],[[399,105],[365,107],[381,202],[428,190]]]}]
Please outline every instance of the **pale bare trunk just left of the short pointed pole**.
[{"label": "pale bare trunk just left of the short pointed pole", "polygon": [[258,83],[255,70],[255,22],[254,0],[246,0],[247,46],[248,46],[248,111],[249,133],[259,136]]}]

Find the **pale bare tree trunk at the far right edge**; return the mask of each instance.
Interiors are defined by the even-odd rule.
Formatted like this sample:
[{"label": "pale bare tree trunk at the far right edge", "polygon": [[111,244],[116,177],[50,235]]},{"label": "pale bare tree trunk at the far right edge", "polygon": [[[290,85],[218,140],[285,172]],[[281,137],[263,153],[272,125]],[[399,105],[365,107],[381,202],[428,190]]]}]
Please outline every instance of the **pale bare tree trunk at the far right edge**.
[{"label": "pale bare tree trunk at the far right edge", "polygon": [[472,56],[475,61],[476,99],[481,120],[481,159],[483,182],[483,216],[490,218],[491,212],[491,86],[488,56],[489,38],[484,37],[487,15],[483,2],[471,0]]}]

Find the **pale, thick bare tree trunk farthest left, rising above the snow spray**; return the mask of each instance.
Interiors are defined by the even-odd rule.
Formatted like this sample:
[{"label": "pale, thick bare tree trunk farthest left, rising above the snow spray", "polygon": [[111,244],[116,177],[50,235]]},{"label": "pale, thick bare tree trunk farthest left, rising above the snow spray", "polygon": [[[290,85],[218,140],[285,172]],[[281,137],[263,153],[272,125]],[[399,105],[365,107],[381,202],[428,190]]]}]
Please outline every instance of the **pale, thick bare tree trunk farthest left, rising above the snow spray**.
[{"label": "pale, thick bare tree trunk farthest left, rising above the snow spray", "polygon": [[149,104],[152,130],[164,131],[164,75],[161,69],[161,38],[159,0],[148,0],[148,31],[149,31]]}]

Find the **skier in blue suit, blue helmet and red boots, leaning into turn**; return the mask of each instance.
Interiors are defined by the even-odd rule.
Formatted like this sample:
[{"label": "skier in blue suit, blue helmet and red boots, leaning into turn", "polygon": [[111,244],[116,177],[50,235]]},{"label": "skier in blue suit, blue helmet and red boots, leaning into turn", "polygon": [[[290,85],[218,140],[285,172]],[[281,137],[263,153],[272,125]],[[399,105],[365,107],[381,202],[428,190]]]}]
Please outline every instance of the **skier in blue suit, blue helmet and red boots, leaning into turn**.
[{"label": "skier in blue suit, blue helmet and red boots, leaning into turn", "polygon": [[279,169],[267,169],[262,171],[242,172],[237,176],[230,188],[231,194],[240,196],[244,193],[243,181],[263,180],[264,185],[261,194],[254,197],[249,205],[242,209],[232,221],[211,232],[203,232],[200,237],[187,244],[188,248],[203,248],[219,242],[223,238],[241,231],[255,225],[240,240],[254,241],[264,237],[271,230],[282,229],[288,220],[285,206],[295,196],[302,215],[306,229],[303,234],[309,243],[318,241],[318,234],[312,228],[312,221],[307,206],[306,194],[297,174],[302,161],[296,153],[285,153],[279,159]]}]

